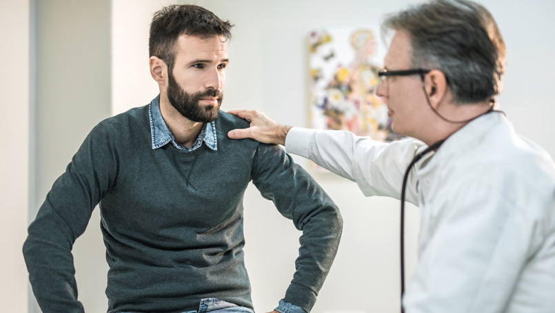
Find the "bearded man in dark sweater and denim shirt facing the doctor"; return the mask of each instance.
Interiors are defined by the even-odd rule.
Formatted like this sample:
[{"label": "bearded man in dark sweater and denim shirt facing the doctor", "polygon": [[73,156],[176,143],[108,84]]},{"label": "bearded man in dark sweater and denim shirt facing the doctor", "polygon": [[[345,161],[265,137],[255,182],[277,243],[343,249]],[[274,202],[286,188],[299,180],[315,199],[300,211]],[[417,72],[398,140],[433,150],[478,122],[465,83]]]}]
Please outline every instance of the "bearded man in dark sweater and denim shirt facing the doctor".
[{"label": "bearded man in dark sweater and denim shirt facing the doctor", "polygon": [[97,204],[108,312],[253,313],[243,261],[250,181],[303,231],[276,310],[310,312],[341,215],[283,149],[228,138],[249,126],[219,111],[232,26],[199,6],[154,14],[150,74],[159,96],[94,127],[29,226],[23,252],[44,313],[84,312],[71,249]]}]

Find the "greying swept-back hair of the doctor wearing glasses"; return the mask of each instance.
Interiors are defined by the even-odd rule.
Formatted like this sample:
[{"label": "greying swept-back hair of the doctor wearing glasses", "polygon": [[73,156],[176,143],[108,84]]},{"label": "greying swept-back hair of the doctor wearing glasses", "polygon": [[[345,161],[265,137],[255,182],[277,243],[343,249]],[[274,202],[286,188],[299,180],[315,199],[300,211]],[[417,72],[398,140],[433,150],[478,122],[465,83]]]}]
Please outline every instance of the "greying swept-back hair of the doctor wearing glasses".
[{"label": "greying swept-back hair of the doctor wearing glasses", "polygon": [[432,0],[391,14],[382,32],[412,40],[412,67],[439,69],[457,104],[491,100],[503,89],[507,51],[492,14],[467,0]]}]

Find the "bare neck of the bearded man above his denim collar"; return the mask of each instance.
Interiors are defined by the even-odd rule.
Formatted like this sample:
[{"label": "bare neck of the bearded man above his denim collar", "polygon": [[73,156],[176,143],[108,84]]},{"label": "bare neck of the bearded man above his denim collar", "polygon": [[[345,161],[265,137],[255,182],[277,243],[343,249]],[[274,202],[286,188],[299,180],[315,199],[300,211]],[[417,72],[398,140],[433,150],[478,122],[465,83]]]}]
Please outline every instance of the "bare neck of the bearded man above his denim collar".
[{"label": "bare neck of the bearded man above his denim collar", "polygon": [[199,138],[204,123],[194,122],[182,116],[170,104],[167,96],[160,96],[160,111],[175,141],[188,149],[192,147],[196,139]]}]

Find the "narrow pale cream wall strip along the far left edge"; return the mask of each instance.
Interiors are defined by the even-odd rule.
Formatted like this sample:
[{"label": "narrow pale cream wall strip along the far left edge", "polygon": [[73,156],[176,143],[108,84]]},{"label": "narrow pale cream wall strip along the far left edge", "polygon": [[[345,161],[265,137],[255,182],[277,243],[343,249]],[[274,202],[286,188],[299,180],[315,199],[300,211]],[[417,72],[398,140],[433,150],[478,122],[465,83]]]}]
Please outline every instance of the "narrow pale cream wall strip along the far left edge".
[{"label": "narrow pale cream wall strip along the far left edge", "polygon": [[[27,269],[21,248],[27,236],[29,197],[29,1],[0,1],[0,312],[27,310]],[[5,45],[9,43],[9,48]]]}]

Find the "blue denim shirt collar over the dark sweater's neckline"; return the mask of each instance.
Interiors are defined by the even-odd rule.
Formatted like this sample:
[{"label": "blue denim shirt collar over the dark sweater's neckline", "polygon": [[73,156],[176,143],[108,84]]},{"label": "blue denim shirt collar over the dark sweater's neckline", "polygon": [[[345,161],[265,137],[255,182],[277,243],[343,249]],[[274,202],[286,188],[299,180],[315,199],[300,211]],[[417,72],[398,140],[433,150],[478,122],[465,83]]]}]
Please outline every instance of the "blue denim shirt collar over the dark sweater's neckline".
[{"label": "blue denim shirt collar over the dark sweater's neckline", "polygon": [[150,133],[152,135],[153,150],[163,147],[169,142],[171,142],[177,149],[185,151],[196,150],[201,147],[203,142],[206,144],[206,147],[214,151],[218,150],[215,122],[205,123],[201,133],[199,134],[199,138],[196,138],[196,142],[194,142],[192,147],[188,149],[175,141],[168,125],[165,124],[164,119],[162,118],[162,112],[160,111],[160,95],[150,102],[148,115],[150,117]]}]

